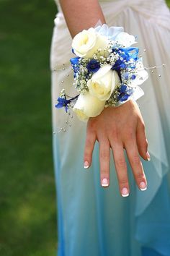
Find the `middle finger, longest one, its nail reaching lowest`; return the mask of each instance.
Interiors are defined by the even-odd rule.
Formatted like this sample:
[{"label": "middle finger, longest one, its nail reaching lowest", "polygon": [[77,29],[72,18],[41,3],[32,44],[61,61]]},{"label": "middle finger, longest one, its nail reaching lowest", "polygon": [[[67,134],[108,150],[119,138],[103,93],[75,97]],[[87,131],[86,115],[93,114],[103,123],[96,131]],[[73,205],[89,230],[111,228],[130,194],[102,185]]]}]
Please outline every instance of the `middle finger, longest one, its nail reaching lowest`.
[{"label": "middle finger, longest one, its nail reaching lowest", "polygon": [[113,158],[115,161],[115,168],[120,187],[120,194],[122,195],[122,197],[128,197],[130,188],[128,182],[127,165],[125,161],[122,143],[115,143],[115,145],[113,145],[113,143],[110,142],[110,144],[112,147]]}]

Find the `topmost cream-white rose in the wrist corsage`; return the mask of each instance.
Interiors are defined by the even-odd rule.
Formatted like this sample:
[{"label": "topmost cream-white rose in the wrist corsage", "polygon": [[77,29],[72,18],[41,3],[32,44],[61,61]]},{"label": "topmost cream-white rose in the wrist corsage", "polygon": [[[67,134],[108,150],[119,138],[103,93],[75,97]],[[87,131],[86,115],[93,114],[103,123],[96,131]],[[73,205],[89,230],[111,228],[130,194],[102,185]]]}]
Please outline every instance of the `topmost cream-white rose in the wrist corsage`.
[{"label": "topmost cream-white rose in the wrist corsage", "polygon": [[97,49],[103,50],[107,47],[109,41],[106,36],[100,35],[93,27],[89,30],[83,30],[75,35],[72,42],[72,48],[76,56],[91,58]]}]

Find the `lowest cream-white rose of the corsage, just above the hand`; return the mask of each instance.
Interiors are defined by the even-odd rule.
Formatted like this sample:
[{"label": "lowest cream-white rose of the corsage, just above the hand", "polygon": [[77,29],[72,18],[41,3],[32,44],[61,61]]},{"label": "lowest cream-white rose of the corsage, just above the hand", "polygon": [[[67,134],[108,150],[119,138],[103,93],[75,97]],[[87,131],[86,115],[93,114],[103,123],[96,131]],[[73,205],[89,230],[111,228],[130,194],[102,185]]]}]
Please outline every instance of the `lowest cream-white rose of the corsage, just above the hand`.
[{"label": "lowest cream-white rose of the corsage, just above the hand", "polygon": [[73,111],[81,121],[87,121],[89,117],[98,116],[104,109],[105,101],[90,95],[89,92],[80,94],[73,106]]}]

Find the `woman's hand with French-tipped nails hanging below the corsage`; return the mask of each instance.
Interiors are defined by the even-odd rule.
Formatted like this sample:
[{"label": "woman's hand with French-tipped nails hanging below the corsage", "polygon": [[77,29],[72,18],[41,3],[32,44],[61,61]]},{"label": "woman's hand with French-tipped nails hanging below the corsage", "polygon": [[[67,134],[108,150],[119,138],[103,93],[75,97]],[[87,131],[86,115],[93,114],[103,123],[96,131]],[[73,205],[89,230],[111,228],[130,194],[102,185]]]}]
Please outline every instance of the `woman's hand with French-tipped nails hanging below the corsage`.
[{"label": "woman's hand with French-tipped nails hanging below the corsage", "polygon": [[109,186],[109,158],[112,148],[117,178],[122,196],[129,195],[127,152],[135,182],[141,190],[146,190],[147,181],[139,155],[150,160],[145,125],[137,103],[128,101],[117,108],[107,107],[99,116],[90,118],[86,129],[84,168],[91,165],[95,141],[99,142],[100,180],[102,187]]}]

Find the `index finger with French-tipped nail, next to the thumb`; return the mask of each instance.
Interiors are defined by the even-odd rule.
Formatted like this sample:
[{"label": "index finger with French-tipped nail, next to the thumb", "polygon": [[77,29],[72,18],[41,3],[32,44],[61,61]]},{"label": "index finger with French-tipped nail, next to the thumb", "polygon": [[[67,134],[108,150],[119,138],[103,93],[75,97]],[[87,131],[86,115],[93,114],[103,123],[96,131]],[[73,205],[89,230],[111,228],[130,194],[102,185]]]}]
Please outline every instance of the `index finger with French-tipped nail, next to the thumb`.
[{"label": "index finger with French-tipped nail, next to the thumb", "polygon": [[127,151],[128,159],[130,161],[130,166],[133,170],[133,175],[135,177],[135,182],[138,184],[140,190],[146,190],[147,181],[146,176],[143,171],[143,165],[140,161],[138,147],[136,144],[136,139],[131,138],[128,142],[125,143],[125,148]]}]

